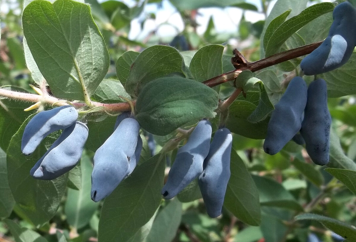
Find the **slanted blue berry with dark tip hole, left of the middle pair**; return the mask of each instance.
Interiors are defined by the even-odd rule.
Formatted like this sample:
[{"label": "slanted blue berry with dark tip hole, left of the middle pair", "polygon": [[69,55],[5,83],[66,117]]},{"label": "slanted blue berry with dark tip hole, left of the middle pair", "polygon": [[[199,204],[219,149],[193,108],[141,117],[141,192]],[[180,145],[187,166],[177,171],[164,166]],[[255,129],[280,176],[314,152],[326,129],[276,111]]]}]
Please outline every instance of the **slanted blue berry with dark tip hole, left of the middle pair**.
[{"label": "slanted blue berry with dark tip hole, left of the middle pair", "polygon": [[161,194],[171,199],[203,172],[203,162],[209,153],[211,123],[201,120],[190,134],[187,144],[178,149]]}]

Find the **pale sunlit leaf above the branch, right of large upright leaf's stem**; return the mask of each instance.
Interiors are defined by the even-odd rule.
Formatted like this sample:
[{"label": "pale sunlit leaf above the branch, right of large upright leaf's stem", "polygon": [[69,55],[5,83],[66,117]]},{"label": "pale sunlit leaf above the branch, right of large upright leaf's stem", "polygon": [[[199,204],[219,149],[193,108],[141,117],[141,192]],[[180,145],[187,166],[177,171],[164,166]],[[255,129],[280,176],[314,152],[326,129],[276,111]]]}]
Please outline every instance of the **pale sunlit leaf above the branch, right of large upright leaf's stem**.
[{"label": "pale sunlit leaf above the branch, right of large upright leaf's stem", "polygon": [[114,79],[104,79],[94,92],[94,97],[99,102],[105,102],[106,100],[115,100],[116,103],[126,102],[119,96],[131,99],[121,82]]}]

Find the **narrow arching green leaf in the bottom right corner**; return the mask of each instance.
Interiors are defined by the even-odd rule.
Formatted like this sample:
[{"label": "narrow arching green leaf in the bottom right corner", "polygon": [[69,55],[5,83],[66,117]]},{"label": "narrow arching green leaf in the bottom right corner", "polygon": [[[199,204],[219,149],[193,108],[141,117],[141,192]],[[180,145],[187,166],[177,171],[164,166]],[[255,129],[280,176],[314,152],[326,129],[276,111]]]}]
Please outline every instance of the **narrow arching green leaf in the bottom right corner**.
[{"label": "narrow arching green leaf in the bottom right corner", "polygon": [[294,217],[295,220],[315,220],[323,224],[325,227],[334,231],[338,235],[344,237],[348,241],[356,241],[356,229],[354,226],[345,224],[336,219],[331,219],[330,217],[325,217],[317,214],[300,214]]}]

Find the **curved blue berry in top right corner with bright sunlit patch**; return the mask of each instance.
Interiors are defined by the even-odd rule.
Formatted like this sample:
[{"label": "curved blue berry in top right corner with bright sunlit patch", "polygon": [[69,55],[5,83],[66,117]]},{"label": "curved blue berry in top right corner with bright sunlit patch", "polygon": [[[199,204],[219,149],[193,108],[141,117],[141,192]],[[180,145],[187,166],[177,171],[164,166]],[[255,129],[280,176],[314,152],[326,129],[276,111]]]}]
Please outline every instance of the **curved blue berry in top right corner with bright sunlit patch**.
[{"label": "curved blue berry in top right corner with bright sunlit patch", "polygon": [[356,10],[342,2],[333,11],[334,22],[325,41],[300,63],[305,75],[334,70],[350,59],[356,45]]}]

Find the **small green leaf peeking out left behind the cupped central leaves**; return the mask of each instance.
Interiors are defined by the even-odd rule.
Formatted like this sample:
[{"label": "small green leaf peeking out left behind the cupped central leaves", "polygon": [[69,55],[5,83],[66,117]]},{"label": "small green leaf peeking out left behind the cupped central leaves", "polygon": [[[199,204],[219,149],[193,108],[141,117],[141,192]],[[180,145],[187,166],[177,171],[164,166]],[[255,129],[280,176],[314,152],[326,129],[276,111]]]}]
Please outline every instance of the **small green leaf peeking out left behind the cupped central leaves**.
[{"label": "small green leaf peeking out left behind the cupped central leaves", "polygon": [[131,66],[139,54],[140,53],[138,52],[130,50],[122,54],[121,57],[119,57],[119,59],[116,61],[116,75],[122,84],[126,83]]}]

